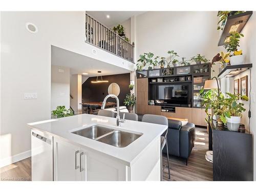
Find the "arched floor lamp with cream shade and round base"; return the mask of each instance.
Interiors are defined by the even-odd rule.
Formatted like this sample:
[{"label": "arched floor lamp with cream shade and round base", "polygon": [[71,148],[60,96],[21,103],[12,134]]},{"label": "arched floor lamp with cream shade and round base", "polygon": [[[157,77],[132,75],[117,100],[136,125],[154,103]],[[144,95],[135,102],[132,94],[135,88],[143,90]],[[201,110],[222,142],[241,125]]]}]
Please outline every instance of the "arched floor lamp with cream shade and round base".
[{"label": "arched floor lamp with cream shade and round base", "polygon": [[[219,86],[219,81],[218,81],[217,77],[212,77],[210,80],[206,80],[204,83],[204,89],[218,89],[218,95],[220,96],[220,86]],[[209,129],[211,129],[211,128],[209,127]],[[212,132],[211,132],[211,134],[212,134]],[[212,137],[212,135],[211,135],[211,137]],[[207,151],[205,154],[205,159],[212,163],[213,152]]]}]

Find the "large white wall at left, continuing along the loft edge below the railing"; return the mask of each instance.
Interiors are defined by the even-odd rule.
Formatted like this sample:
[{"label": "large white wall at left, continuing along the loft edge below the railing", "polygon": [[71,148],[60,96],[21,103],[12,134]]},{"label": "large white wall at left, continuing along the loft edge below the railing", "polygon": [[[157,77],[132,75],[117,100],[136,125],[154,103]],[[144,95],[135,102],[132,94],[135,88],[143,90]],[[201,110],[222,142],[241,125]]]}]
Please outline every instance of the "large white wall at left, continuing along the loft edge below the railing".
[{"label": "large white wall at left, continuing along the loft edge below the railing", "polygon": [[[38,33],[29,33],[27,22]],[[29,157],[27,123],[51,117],[51,45],[134,69],[133,63],[86,44],[84,24],[85,12],[1,12],[1,165]],[[37,99],[25,100],[30,92]]]}]

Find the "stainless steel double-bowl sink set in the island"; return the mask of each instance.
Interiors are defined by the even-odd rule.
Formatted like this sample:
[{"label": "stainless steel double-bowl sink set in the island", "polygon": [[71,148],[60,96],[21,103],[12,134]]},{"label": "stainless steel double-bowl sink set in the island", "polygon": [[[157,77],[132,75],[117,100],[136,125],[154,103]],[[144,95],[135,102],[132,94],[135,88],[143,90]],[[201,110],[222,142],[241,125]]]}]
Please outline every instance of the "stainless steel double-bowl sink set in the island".
[{"label": "stainless steel double-bowl sink set in the island", "polygon": [[142,135],[138,133],[114,130],[101,125],[91,125],[71,133],[116,147],[128,146]]}]

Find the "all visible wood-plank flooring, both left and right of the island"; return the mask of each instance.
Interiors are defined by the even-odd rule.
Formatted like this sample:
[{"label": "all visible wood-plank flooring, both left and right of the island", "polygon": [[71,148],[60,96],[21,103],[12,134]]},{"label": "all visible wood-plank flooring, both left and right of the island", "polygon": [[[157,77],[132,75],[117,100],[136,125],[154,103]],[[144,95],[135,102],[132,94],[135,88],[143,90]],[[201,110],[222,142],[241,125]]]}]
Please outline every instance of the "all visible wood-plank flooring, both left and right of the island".
[{"label": "all visible wood-plank flooring, both left and right of the island", "polygon": [[[208,134],[206,129],[196,128],[195,146],[186,162],[170,157],[171,181],[212,181],[212,163],[205,160],[208,151]],[[163,156],[163,164],[167,165],[167,157]],[[2,181],[31,181],[31,158],[18,161],[0,169]],[[168,179],[168,168],[164,167],[163,179]]]}]

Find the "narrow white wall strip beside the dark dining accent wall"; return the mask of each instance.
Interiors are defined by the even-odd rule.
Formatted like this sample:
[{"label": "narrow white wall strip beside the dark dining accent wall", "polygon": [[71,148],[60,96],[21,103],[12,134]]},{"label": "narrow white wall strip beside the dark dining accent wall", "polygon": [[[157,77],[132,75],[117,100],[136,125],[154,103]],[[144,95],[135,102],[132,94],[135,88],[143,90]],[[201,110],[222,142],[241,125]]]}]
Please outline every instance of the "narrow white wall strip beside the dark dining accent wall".
[{"label": "narrow white wall strip beside the dark dining accent wall", "polygon": [[76,74],[70,76],[70,106],[74,110],[75,115],[82,114],[82,75]]}]

